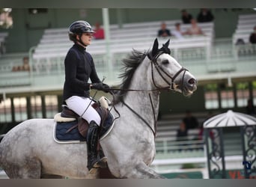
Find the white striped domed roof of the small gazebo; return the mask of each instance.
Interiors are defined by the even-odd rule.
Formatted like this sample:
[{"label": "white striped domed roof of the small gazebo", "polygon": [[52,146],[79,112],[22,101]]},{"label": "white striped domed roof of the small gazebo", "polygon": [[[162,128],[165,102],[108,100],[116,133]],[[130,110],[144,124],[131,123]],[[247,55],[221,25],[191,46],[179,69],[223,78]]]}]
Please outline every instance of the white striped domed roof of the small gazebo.
[{"label": "white striped domed roof of the small gazebo", "polygon": [[210,117],[204,122],[204,128],[246,125],[256,125],[256,118],[251,115],[234,112],[232,110],[228,110],[222,114],[217,114],[216,116]]}]

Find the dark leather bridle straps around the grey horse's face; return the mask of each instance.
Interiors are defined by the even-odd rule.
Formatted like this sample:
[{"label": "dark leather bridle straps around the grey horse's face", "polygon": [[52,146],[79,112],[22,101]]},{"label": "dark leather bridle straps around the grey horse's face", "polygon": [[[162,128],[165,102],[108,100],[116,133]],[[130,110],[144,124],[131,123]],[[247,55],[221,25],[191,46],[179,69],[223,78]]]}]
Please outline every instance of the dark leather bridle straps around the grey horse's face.
[{"label": "dark leather bridle straps around the grey horse's face", "polygon": [[[152,76],[152,81],[153,81],[153,85],[159,89],[159,90],[162,90],[162,89],[168,89],[168,90],[171,90],[171,91],[174,91],[175,88],[174,88],[174,80],[177,78],[177,76],[180,75],[181,72],[184,72],[183,73],[183,78],[182,78],[182,85],[181,85],[181,88],[183,88],[183,82],[184,82],[184,76],[185,76],[185,73],[186,71],[186,68],[184,67],[181,67],[180,70],[177,71],[177,73],[174,74],[174,76],[170,76],[168,73],[166,73],[166,71],[161,67],[159,66],[159,64],[157,64],[156,60],[157,58],[159,58],[159,55],[162,55],[164,52],[159,52],[158,54],[156,54],[155,56],[153,56],[153,58],[150,58],[150,55],[147,55],[147,57],[150,59],[150,62],[151,62],[151,76]],[[154,67],[156,68],[156,71],[157,73],[159,74],[159,76],[162,77],[162,79],[165,81],[165,83],[168,85],[168,87],[166,88],[159,88],[159,86],[156,85],[156,82],[155,82],[155,79],[153,77],[153,65]],[[165,76],[168,76],[168,78],[171,79],[171,83],[168,82],[167,79],[165,79],[165,77],[163,76],[163,74],[165,74]]]}]

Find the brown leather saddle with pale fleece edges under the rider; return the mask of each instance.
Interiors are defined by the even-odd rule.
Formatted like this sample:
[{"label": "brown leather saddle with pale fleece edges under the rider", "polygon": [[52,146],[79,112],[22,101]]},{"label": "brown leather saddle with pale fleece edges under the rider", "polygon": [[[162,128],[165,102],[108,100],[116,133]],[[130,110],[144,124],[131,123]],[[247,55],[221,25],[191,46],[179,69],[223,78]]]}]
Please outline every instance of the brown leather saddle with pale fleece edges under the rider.
[{"label": "brown leather saddle with pale fleece edges under the rider", "polygon": [[[99,102],[94,102],[92,104],[92,107],[100,114],[101,123],[100,123],[100,131],[104,131],[104,123],[105,120],[109,117],[109,104],[107,102],[106,97],[101,97],[99,99]],[[70,127],[70,129],[67,129],[66,133],[72,131],[75,128],[78,128],[79,134],[82,135],[82,137],[86,138],[89,123],[87,120],[80,117],[76,112],[71,110],[67,107],[67,105],[62,105],[62,111],[58,115],[55,115],[55,120],[58,122],[73,122],[76,121],[77,123],[74,123],[73,126]],[[106,131],[104,131],[106,132]]]}]

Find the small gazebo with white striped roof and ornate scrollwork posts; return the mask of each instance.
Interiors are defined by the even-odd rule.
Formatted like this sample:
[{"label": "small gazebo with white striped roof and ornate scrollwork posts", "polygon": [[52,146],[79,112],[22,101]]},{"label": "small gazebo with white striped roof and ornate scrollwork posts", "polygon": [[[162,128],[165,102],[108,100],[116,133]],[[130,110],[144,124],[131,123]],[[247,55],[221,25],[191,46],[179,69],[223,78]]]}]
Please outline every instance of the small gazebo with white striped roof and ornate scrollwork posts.
[{"label": "small gazebo with white striped roof and ornate scrollwork posts", "polygon": [[[256,172],[256,168],[253,166],[256,163],[256,118],[228,110],[225,113],[210,117],[204,122],[209,178],[226,178],[222,129],[231,126],[240,128],[241,150],[243,150],[243,163],[241,165],[244,166],[245,178],[249,178],[252,173]],[[213,129],[215,133],[211,137],[210,132]]]}]

